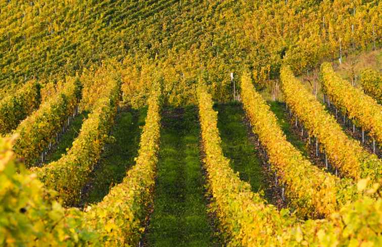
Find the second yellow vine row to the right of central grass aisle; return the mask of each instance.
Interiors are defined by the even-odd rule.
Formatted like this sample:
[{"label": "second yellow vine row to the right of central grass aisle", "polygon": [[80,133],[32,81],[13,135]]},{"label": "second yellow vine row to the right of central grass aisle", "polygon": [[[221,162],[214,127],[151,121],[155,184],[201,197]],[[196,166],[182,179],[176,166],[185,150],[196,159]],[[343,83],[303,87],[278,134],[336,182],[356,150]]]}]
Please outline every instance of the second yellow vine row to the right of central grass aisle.
[{"label": "second yellow vine row to the right of central grass aisle", "polygon": [[354,201],[356,190],[350,179],[339,179],[313,166],[287,141],[276,117],[257,93],[251,78],[241,78],[241,95],[252,130],[265,147],[271,169],[287,186],[290,205],[298,214],[308,217],[328,216],[348,201]]}]

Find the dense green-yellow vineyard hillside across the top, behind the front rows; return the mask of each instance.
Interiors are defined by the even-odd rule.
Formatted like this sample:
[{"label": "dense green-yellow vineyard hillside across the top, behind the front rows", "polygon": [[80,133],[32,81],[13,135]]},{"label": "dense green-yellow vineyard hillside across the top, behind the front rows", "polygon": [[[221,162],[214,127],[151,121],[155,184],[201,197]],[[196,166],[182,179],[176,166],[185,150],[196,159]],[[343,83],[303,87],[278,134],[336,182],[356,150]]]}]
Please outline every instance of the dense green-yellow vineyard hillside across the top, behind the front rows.
[{"label": "dense green-yellow vineyard hillside across the top, behind the front rows", "polygon": [[376,0],[67,2],[2,1],[0,87],[33,77],[58,81],[116,58],[128,61],[129,80],[162,70],[170,104],[197,103],[201,72],[214,98],[229,101],[229,73],[244,64],[266,84],[283,58],[301,73],[340,53],[378,47],[382,35]]}]

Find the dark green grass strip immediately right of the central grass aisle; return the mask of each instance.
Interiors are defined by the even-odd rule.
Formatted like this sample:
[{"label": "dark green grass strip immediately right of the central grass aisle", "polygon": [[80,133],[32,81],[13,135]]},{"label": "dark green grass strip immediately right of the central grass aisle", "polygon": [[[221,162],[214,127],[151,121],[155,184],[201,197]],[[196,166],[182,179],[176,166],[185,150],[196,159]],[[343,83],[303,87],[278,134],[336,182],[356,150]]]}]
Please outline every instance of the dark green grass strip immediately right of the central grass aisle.
[{"label": "dark green grass strip immediately right of the central grass aisle", "polygon": [[216,105],[218,129],[224,156],[231,160],[231,167],[240,178],[251,184],[252,191],[265,189],[261,160],[255,146],[250,142],[245,112],[241,105]]}]

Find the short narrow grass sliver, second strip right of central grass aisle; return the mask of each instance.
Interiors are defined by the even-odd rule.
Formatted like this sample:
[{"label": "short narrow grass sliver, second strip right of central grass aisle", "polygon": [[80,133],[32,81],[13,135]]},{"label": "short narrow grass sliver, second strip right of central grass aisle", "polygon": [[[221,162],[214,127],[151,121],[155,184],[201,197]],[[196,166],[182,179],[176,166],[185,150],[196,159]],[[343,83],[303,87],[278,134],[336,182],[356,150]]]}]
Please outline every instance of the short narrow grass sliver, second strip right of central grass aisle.
[{"label": "short narrow grass sliver, second strip right of central grass aisle", "polygon": [[285,105],[279,101],[268,102],[271,111],[277,117],[277,123],[281,127],[287,140],[291,142],[305,157],[308,157],[307,146],[296,133],[292,131],[291,123],[288,121],[288,112],[285,110]]}]

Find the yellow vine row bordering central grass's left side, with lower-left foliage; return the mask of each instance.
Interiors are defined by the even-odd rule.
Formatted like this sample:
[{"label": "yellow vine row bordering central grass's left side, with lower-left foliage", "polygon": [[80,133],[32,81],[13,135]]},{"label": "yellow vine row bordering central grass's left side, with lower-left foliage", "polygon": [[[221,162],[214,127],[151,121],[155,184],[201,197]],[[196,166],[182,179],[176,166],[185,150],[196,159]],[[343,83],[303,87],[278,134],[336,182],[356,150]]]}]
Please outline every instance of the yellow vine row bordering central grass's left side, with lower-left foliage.
[{"label": "yellow vine row bordering central grass's left side, with lower-left foliage", "polygon": [[144,229],[141,221],[147,217],[146,206],[153,200],[159,97],[160,90],[156,90],[149,98],[136,165],[102,202],[87,207],[86,212],[63,208],[55,201],[61,194],[46,189],[35,174],[16,162],[11,145],[15,136],[0,138],[0,181],[4,185],[0,193],[0,245],[136,246]]}]

